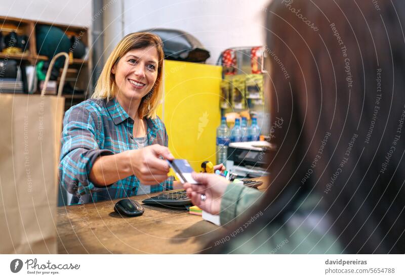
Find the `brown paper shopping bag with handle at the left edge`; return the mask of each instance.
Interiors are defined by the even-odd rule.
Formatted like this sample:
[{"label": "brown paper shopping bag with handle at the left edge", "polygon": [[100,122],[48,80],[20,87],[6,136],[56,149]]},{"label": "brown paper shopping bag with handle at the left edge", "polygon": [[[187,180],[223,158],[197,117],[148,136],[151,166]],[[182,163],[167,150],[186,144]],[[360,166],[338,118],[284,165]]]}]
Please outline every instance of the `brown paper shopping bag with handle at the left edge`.
[{"label": "brown paper shopping bag with handle at the left edge", "polygon": [[[58,96],[45,96],[65,56]],[[0,254],[57,253],[61,97],[68,55],[41,95],[0,94]]]}]

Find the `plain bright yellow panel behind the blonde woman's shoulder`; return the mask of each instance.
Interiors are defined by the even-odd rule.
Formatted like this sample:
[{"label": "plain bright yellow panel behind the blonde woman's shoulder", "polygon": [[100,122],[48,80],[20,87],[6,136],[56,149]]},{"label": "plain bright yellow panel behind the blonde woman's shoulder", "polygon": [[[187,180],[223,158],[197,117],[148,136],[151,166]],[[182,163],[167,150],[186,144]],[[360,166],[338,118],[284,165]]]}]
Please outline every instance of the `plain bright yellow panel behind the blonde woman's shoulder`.
[{"label": "plain bright yellow panel behind the blonde woman's shoulder", "polygon": [[[165,60],[165,98],[157,115],[169,134],[169,149],[195,171],[204,161],[215,164],[221,67]],[[164,114],[164,115],[163,115]]]}]

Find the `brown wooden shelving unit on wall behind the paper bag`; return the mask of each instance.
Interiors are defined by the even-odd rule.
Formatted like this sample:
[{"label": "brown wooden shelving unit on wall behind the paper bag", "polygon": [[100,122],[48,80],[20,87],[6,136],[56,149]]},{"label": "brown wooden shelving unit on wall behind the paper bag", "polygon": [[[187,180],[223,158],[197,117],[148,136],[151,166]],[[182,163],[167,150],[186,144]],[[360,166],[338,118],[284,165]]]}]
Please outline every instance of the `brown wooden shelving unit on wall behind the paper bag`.
[{"label": "brown wooden shelving unit on wall behind the paper bag", "polygon": [[[72,25],[63,25],[55,24],[51,22],[44,21],[35,21],[21,18],[13,17],[4,17],[0,16],[0,31],[3,35],[8,34],[9,32],[15,31],[18,35],[25,34],[28,36],[28,52],[22,54],[6,54],[0,52],[0,59],[13,59],[17,60],[19,64],[24,65],[36,65],[40,61],[49,60],[48,57],[43,55],[38,55],[36,50],[36,26],[37,25],[50,25],[60,28],[68,37],[72,35],[80,37],[87,47],[89,46],[89,30],[84,26],[72,26]],[[87,55],[89,59],[91,55]],[[84,90],[84,94],[63,94],[63,97],[66,98],[65,101],[65,110],[69,109],[71,106],[78,104],[86,100],[90,96],[89,89],[91,89],[91,60],[84,59],[73,59],[69,62],[69,69],[66,75],[66,82],[70,82],[71,85],[75,88]],[[65,82],[65,84],[66,84]],[[39,90],[39,89],[38,89]],[[5,92],[14,94],[14,92]],[[36,91],[34,94],[40,94],[41,92]]]}]

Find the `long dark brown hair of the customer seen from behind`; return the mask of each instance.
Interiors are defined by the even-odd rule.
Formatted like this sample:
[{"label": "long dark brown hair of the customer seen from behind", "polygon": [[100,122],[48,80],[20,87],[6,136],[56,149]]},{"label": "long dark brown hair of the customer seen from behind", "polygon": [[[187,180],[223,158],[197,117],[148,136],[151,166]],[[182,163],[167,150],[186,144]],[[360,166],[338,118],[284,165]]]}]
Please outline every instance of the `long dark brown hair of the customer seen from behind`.
[{"label": "long dark brown hair of the customer seen from behind", "polygon": [[270,111],[284,125],[258,205],[268,218],[249,229],[305,189],[322,197],[344,253],[405,252],[405,4],[378,5],[273,0],[266,10]]}]

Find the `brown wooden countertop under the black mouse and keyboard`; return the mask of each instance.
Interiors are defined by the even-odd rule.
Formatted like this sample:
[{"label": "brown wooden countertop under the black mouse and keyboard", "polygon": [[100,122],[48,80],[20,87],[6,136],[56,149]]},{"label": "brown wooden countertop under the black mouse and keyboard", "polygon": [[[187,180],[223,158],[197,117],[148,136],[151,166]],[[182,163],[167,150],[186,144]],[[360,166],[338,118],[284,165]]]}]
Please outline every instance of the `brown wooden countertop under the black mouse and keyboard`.
[{"label": "brown wooden countertop under the black mouse and keyboard", "polygon": [[[268,178],[259,187],[264,191]],[[153,194],[157,195],[157,194]],[[150,195],[131,197],[141,203]],[[119,199],[118,199],[119,200]],[[138,217],[114,212],[118,200],[58,207],[60,254],[198,253],[224,228],[187,210],[143,205]]]}]

